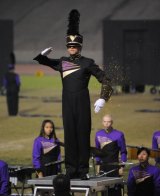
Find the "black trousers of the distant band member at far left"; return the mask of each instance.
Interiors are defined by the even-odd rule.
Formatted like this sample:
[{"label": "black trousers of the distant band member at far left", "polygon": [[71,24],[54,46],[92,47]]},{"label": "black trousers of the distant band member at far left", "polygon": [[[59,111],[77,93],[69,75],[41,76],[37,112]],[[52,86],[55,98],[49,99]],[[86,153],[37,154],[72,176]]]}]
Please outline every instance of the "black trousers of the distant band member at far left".
[{"label": "black trousers of the distant band member at far left", "polygon": [[18,114],[18,92],[7,93],[7,106],[9,116],[16,116]]}]

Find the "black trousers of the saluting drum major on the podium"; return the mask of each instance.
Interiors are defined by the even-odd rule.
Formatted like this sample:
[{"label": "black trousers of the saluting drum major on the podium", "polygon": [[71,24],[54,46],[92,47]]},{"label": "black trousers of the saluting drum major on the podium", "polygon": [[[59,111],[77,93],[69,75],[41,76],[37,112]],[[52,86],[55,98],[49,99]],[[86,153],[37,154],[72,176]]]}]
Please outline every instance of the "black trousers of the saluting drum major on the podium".
[{"label": "black trousers of the saluting drum major on the podium", "polygon": [[89,172],[91,111],[88,89],[63,91],[63,124],[66,171]]}]

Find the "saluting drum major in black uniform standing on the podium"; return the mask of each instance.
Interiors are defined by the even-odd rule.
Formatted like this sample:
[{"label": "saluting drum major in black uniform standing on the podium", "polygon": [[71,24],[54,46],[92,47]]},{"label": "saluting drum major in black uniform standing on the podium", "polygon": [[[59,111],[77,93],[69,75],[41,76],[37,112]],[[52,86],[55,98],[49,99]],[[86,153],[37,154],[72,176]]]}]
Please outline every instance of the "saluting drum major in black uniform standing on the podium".
[{"label": "saluting drum major in black uniform standing on the podium", "polygon": [[100,98],[95,102],[95,112],[99,112],[105,101],[109,100],[112,88],[105,72],[94,60],[81,56],[83,36],[79,34],[79,18],[77,10],[70,12],[66,37],[69,57],[50,59],[46,55],[52,48],[47,48],[34,60],[61,74],[66,173],[70,178],[88,179],[91,131],[88,83],[91,75],[102,83]]}]

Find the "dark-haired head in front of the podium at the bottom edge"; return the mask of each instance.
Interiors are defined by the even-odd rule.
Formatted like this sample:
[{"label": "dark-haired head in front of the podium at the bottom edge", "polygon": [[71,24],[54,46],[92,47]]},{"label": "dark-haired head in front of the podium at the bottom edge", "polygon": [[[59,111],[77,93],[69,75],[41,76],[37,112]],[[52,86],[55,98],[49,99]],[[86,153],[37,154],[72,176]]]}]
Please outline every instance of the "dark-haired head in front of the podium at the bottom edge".
[{"label": "dark-haired head in front of the podium at the bottom edge", "polygon": [[53,179],[55,196],[70,195],[70,178],[67,175],[59,174]]}]

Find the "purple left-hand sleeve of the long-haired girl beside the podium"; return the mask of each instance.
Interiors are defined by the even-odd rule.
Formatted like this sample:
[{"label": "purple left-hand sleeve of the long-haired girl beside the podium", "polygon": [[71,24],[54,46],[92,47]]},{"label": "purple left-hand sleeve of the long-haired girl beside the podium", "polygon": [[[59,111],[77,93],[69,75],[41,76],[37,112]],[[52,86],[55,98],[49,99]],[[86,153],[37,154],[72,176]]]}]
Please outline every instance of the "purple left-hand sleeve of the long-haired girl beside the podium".
[{"label": "purple left-hand sleeve of the long-haired girl beside the podium", "polygon": [[33,167],[36,169],[41,168],[41,154],[42,154],[42,145],[38,139],[35,139],[33,144],[33,151],[32,151],[32,162],[33,162]]}]

